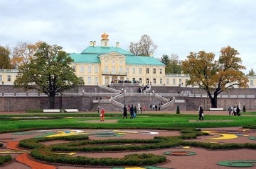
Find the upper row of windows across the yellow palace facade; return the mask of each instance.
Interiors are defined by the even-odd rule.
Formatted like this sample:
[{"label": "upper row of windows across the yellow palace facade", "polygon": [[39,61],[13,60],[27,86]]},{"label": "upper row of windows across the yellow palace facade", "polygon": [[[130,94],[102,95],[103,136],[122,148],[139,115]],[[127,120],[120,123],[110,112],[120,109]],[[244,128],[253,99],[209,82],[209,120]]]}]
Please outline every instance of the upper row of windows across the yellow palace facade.
[{"label": "upper row of windows across the yellow palace facade", "polygon": [[[91,73],[92,72],[92,66],[87,66],[87,72],[88,73]],[[73,69],[75,69],[75,66],[73,66]],[[105,69],[104,69],[105,72],[108,72],[109,71],[109,68],[108,66],[105,66]],[[129,74],[129,67],[125,68],[125,71],[127,74]],[[80,66],[80,73],[83,73],[85,72],[85,66]],[[112,66],[112,72],[116,72],[116,67],[115,66]],[[119,72],[122,73],[123,72],[123,67],[122,66],[119,66]],[[99,66],[95,66],[95,73],[99,73]],[[133,67],[132,68],[132,74],[135,74],[136,73],[136,68]],[[139,68],[139,74],[142,74],[142,68]],[[146,68],[146,74],[149,74],[149,68]],[[153,74],[156,74],[156,68],[153,69]],[[159,69],[159,74],[163,74],[163,69]]]}]

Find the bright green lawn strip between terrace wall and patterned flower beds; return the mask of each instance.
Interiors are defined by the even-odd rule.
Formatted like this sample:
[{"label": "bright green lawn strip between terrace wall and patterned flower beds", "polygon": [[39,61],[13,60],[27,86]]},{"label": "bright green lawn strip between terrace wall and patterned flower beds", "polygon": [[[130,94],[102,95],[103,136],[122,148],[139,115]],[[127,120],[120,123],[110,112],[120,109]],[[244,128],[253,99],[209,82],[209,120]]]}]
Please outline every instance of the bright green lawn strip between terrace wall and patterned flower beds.
[{"label": "bright green lawn strip between terrace wall and patterned flower beds", "polygon": [[[0,115],[0,133],[25,131],[29,129],[176,129],[184,127],[252,127],[256,128],[256,113],[248,112],[255,116],[229,116],[206,115],[205,121],[198,122],[198,115],[168,114],[138,114],[135,119],[122,119],[122,113],[107,113],[105,120],[118,120],[117,123],[92,123],[90,120],[100,120],[98,113],[33,113],[27,115]],[[53,119],[41,120],[32,117],[53,117]],[[17,119],[9,117],[31,117],[29,119]],[[72,117],[72,118],[65,118]],[[193,120],[194,122],[189,122]],[[209,121],[208,121],[209,120]],[[224,120],[229,120],[224,121]]]}]

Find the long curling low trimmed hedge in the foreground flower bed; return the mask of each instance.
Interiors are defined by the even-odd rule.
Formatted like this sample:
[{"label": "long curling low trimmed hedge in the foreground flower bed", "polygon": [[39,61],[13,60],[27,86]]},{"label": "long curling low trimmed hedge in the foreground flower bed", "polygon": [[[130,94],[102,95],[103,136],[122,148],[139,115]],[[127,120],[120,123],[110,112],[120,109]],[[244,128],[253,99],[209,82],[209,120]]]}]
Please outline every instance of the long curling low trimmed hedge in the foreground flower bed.
[{"label": "long curling low trimmed hedge in the foreground flower bed", "polygon": [[[183,141],[183,139],[196,138],[203,135],[198,129],[181,129],[181,136],[155,136],[154,139],[110,139],[110,140],[89,140],[87,136],[59,136],[33,138],[20,141],[20,146],[33,149],[31,156],[40,161],[48,163],[65,163],[75,165],[102,165],[102,166],[133,166],[133,165],[154,165],[164,163],[166,156],[158,156],[150,153],[132,154],[124,158],[88,158],[84,156],[65,156],[55,152],[82,151],[82,152],[103,152],[103,151],[145,151],[158,148],[172,148],[176,146],[194,146],[208,148],[211,150],[230,148],[256,148],[256,144],[214,144],[196,141]],[[41,142],[65,140],[73,141],[65,144],[45,146]],[[126,145],[129,144],[129,145]]]}]

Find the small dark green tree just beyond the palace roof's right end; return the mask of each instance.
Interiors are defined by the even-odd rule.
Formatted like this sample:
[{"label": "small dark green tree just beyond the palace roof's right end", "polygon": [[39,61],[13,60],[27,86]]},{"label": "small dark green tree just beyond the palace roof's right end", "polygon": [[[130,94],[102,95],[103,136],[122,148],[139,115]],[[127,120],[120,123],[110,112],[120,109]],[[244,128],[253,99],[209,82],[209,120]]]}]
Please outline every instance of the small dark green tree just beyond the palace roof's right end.
[{"label": "small dark green tree just beyond the palace roof's right end", "polygon": [[160,62],[166,65],[166,74],[181,74],[181,61],[178,60],[177,54],[171,54],[170,58],[168,55],[163,54]]}]

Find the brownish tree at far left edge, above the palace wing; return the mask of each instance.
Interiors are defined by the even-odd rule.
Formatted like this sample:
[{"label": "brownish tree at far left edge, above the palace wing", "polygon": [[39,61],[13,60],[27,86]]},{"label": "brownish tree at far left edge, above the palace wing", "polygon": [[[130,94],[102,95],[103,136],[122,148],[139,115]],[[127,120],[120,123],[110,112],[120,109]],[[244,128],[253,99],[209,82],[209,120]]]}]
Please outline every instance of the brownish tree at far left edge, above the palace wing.
[{"label": "brownish tree at far left edge, above the palace wing", "polygon": [[11,69],[10,50],[0,46],[0,69]]}]

